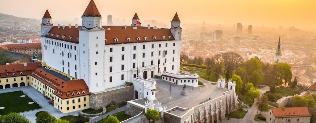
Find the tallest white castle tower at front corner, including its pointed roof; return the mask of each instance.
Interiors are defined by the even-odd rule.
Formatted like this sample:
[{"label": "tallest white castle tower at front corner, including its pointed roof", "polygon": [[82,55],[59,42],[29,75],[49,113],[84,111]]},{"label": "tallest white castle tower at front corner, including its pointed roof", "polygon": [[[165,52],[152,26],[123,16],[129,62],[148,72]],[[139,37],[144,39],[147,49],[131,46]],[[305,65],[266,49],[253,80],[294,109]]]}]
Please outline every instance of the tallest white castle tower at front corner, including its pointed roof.
[{"label": "tallest white castle tower at front corner, including its pointed roof", "polygon": [[82,14],[79,28],[80,76],[90,92],[104,91],[104,40],[102,17],[93,0]]}]

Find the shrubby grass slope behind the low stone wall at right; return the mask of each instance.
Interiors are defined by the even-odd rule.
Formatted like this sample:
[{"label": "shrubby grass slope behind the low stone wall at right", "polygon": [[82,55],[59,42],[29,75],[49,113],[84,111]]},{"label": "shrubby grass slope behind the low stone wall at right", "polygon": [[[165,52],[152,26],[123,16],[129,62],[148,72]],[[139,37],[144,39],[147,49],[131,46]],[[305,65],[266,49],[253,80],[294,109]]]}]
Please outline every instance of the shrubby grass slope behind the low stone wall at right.
[{"label": "shrubby grass slope behind the low stone wall at right", "polygon": [[291,88],[286,88],[286,87],[281,87],[280,88],[280,87],[277,87],[276,88],[276,92],[274,92],[274,93],[266,92],[266,93],[264,93],[264,95],[268,96],[268,101],[276,102],[278,99],[280,99],[282,97],[293,96],[295,94],[300,94],[301,92],[303,92],[303,91],[300,90],[300,89],[297,89],[296,91],[293,91]]}]

